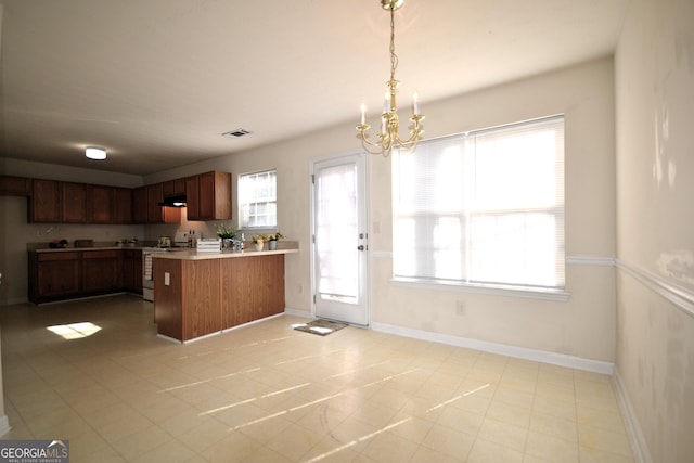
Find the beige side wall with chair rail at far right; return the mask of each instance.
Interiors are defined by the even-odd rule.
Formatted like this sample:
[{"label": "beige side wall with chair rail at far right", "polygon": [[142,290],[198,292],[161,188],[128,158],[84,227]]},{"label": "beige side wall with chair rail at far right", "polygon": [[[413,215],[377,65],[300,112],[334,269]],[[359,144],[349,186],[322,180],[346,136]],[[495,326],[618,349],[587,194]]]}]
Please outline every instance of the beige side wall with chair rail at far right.
[{"label": "beige side wall with chair rail at far right", "polygon": [[694,2],[634,0],[616,54],[617,375],[643,461],[694,461]]}]

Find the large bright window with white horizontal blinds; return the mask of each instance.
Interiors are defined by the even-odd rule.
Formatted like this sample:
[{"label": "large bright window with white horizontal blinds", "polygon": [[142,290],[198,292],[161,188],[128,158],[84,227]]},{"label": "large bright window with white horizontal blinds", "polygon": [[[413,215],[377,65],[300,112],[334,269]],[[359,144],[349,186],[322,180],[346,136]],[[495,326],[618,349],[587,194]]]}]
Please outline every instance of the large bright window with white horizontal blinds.
[{"label": "large bright window with white horizontal blinds", "polygon": [[564,290],[563,116],[420,142],[393,187],[396,279]]}]

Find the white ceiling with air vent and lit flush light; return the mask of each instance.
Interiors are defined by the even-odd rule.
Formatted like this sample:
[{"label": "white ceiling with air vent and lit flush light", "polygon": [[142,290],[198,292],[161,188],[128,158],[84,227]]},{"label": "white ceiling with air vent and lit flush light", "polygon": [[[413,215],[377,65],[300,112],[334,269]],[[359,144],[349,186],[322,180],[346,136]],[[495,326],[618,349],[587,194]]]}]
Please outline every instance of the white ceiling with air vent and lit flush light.
[{"label": "white ceiling with air vent and lit flush light", "polygon": [[[400,91],[416,87],[426,113],[427,101],[611,54],[629,1],[407,0]],[[147,175],[354,131],[389,77],[380,3],[0,0],[0,156]],[[253,134],[221,137],[237,128]],[[88,145],[108,158],[86,159]]]}]

